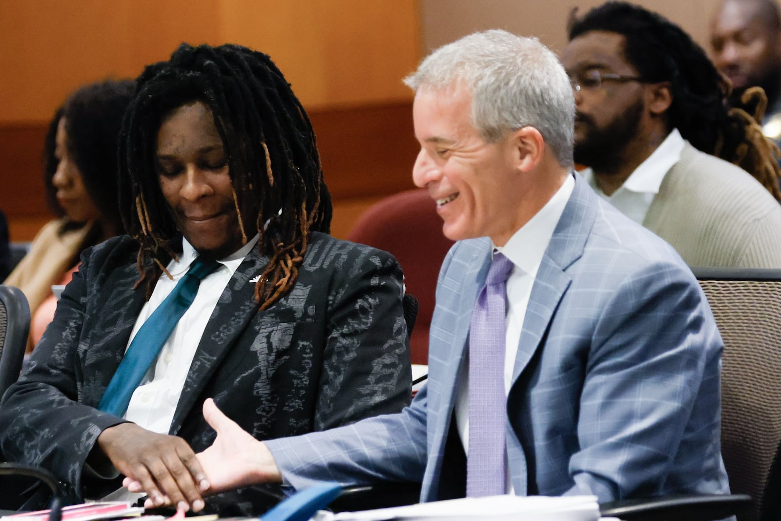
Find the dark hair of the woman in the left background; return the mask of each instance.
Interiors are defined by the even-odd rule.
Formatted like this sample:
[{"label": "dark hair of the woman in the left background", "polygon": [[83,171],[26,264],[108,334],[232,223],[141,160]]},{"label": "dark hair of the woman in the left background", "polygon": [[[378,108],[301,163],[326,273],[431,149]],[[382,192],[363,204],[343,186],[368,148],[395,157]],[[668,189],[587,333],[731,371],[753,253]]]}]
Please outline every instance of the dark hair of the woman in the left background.
[{"label": "dark hair of the woman in the left background", "polygon": [[[84,85],[56,110],[48,126],[44,141],[44,184],[49,209],[56,216],[66,215],[57,202],[57,188],[52,182],[59,166],[55,155],[57,129],[64,118],[68,153],[76,163],[87,194],[113,228],[95,230],[95,237],[91,237],[92,241],[87,237],[89,244],[84,247],[94,244],[104,233],[123,230],[117,205],[116,148],[122,118],[133,98],[133,90],[132,80],[105,80]],[[66,219],[59,232],[62,234],[82,224]]]}]

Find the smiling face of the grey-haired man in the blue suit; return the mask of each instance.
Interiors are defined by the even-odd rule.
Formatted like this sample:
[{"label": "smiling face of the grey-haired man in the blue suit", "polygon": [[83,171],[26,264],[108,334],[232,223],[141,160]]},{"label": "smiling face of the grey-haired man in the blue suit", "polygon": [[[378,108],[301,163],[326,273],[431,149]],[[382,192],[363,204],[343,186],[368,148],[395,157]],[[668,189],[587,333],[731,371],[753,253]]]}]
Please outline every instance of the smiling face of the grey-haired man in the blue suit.
[{"label": "smiling face of the grey-haired man in the blue suit", "polygon": [[453,241],[488,236],[504,245],[522,226],[523,182],[512,134],[487,143],[470,121],[471,96],[462,87],[423,87],[412,108],[421,150],[412,179],[427,187]]}]

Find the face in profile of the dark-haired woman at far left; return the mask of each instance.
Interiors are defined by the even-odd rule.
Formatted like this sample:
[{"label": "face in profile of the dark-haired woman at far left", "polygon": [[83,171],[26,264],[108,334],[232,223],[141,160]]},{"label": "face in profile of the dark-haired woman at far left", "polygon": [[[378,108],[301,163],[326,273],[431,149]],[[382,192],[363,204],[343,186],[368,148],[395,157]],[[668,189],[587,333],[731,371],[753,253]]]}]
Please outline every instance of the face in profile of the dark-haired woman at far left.
[{"label": "face in profile of the dark-haired woman at far left", "polygon": [[52,184],[57,189],[57,202],[68,219],[75,223],[100,219],[102,214],[87,193],[84,177],[68,149],[65,118],[60,118],[57,125],[54,155],[57,170],[52,177]]}]

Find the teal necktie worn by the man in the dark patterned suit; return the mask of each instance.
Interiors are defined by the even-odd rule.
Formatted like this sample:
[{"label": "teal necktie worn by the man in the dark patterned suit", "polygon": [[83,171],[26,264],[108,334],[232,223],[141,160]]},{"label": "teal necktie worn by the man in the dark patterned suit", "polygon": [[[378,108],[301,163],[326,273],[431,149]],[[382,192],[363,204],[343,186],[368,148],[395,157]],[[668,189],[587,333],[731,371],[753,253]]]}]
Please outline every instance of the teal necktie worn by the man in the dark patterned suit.
[{"label": "teal necktie worn by the man in the dark patterned suit", "polygon": [[193,303],[201,280],[219,267],[219,262],[198,257],[162,304],[141,325],[122,362],[109,382],[98,409],[124,416],[130,397],[152,366],[162,346],[177,327],[179,319]]}]

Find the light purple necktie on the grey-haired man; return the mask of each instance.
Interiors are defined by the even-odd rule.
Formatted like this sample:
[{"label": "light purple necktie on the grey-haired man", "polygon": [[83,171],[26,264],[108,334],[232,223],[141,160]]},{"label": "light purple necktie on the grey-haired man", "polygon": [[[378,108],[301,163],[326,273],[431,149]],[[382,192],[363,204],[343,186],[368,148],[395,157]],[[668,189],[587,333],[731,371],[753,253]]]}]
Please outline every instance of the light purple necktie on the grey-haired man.
[{"label": "light purple necktie on the grey-haired man", "polygon": [[469,455],[466,495],[505,494],[505,332],[512,262],[494,254],[469,329]]}]

